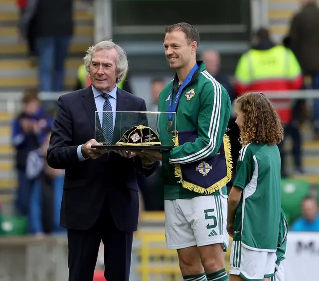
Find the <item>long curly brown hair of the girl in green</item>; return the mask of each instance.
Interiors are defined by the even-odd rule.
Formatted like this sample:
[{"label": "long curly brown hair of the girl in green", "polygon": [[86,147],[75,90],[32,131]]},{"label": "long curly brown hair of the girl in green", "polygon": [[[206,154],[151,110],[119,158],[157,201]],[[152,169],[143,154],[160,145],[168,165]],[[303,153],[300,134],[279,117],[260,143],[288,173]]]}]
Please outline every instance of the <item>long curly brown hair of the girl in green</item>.
[{"label": "long curly brown hair of the girl in green", "polygon": [[247,93],[236,99],[244,113],[240,128],[242,145],[250,142],[279,144],[284,139],[282,122],[271,101],[263,93]]}]

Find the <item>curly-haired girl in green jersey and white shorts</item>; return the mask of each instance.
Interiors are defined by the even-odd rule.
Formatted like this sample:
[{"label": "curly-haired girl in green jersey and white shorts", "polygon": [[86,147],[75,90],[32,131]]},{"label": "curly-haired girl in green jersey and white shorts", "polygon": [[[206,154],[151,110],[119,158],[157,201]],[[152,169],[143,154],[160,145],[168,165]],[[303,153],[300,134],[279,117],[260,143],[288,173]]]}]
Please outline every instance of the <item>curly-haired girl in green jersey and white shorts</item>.
[{"label": "curly-haired girl in green jersey and white shorts", "polygon": [[[228,198],[227,231],[233,237],[230,281],[274,276],[281,218],[283,126],[270,100],[247,93],[235,102],[243,148]],[[251,265],[254,264],[254,267]]]}]

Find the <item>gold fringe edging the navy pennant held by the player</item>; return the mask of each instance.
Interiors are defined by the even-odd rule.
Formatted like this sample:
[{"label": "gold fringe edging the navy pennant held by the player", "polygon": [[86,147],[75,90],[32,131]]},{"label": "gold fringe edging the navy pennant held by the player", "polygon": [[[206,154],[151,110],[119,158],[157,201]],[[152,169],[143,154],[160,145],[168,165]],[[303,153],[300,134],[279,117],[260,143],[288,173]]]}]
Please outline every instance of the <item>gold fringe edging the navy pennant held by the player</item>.
[{"label": "gold fringe edging the navy pennant held by the player", "polygon": [[[224,151],[225,151],[225,159],[226,159],[226,166],[227,166],[226,176],[222,178],[220,181],[218,181],[217,183],[213,184],[212,186],[208,188],[203,188],[198,185],[192,184],[190,182],[184,181],[181,175],[180,165],[175,165],[175,177],[179,178],[178,183],[181,183],[183,188],[194,191],[196,193],[212,194],[230,182],[231,176],[232,176],[233,161],[232,161],[232,157],[230,153],[229,137],[226,134],[223,137],[223,142],[224,142]],[[173,137],[173,143],[174,143],[174,146],[178,146],[178,136]]]}]

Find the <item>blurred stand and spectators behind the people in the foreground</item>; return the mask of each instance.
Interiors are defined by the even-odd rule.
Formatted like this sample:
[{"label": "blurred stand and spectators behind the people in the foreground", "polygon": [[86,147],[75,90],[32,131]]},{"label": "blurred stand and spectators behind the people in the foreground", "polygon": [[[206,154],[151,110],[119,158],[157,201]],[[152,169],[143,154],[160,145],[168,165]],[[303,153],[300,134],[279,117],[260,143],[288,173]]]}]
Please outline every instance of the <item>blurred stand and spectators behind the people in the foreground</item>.
[{"label": "blurred stand and spectators behind the people in the foreground", "polygon": [[[64,172],[48,167],[45,156],[57,96],[90,85],[82,64],[87,47],[109,38],[124,47],[129,70],[118,86],[157,111],[173,76],[164,29],[180,21],[198,29],[198,59],[232,101],[258,90],[272,98],[285,125],[282,204],[290,230],[319,232],[315,0],[0,0],[0,236],[65,233],[59,227]],[[228,134],[235,170],[234,121],[233,115]],[[160,175],[140,175],[139,187],[141,223],[148,214],[162,218]]]}]

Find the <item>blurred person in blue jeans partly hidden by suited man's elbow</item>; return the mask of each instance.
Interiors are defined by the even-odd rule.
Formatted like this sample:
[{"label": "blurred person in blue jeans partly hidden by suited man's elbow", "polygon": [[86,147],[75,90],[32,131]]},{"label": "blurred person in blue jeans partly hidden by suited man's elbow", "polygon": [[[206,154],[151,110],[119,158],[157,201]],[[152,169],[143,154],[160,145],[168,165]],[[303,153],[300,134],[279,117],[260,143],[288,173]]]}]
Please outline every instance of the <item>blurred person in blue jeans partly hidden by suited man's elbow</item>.
[{"label": "blurred person in blue jeans partly hidden by suited man's elbow", "polygon": [[50,132],[47,132],[44,143],[39,149],[32,150],[26,161],[26,177],[34,181],[29,204],[28,233],[37,236],[66,233],[59,226],[64,170],[52,169],[46,162],[50,136]]}]

